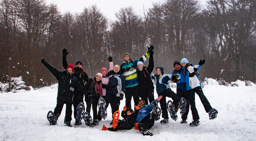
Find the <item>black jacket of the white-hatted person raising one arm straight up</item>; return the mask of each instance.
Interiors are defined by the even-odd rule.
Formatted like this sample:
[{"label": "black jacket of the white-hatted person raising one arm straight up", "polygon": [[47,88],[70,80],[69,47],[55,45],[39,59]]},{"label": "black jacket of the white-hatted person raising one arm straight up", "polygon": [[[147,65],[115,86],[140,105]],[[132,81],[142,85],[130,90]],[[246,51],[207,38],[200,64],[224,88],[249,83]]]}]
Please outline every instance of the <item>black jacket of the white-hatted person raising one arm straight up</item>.
[{"label": "black jacket of the white-hatted person raising one arm straight up", "polygon": [[[145,68],[147,69],[149,75]],[[153,55],[150,55],[148,67],[144,67],[141,71],[139,70],[137,71],[137,75],[138,75],[137,77],[139,80],[138,91],[143,91],[148,88],[154,87],[154,84],[150,78],[150,74],[152,73],[153,69],[154,69],[154,59],[153,59]]]}]

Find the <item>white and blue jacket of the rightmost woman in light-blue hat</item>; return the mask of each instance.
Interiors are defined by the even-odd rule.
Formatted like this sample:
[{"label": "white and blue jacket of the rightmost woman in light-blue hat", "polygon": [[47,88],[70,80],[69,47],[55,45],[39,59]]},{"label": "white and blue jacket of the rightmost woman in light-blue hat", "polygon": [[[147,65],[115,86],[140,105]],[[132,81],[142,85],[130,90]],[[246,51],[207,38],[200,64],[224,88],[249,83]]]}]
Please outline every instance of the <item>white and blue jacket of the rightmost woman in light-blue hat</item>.
[{"label": "white and blue jacket of the rightmost woman in light-blue hat", "polygon": [[195,66],[191,64],[191,66],[188,67],[187,75],[185,75],[185,67],[183,67],[182,74],[185,76],[187,90],[201,86],[198,76],[193,73],[197,71],[200,67],[201,66],[199,65],[199,63]]}]

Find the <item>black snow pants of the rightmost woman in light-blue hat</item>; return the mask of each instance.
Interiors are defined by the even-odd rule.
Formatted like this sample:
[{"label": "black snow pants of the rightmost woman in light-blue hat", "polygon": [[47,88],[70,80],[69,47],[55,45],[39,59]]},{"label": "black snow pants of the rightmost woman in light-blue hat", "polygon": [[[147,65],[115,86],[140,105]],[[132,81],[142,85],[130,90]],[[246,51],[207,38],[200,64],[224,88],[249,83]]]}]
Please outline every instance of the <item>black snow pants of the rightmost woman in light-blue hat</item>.
[{"label": "black snow pants of the rightmost woman in light-blue hat", "polygon": [[191,109],[191,112],[192,112],[193,120],[199,120],[199,115],[198,115],[198,112],[197,112],[197,109],[196,109],[195,92],[199,96],[199,98],[200,98],[200,100],[201,100],[201,102],[204,106],[204,109],[205,109],[206,113],[208,113],[209,110],[211,109],[211,105],[210,105],[208,99],[205,97],[201,86],[198,86],[198,87],[195,87],[191,90],[188,90],[188,96],[189,96],[189,101],[190,101],[190,109]]}]

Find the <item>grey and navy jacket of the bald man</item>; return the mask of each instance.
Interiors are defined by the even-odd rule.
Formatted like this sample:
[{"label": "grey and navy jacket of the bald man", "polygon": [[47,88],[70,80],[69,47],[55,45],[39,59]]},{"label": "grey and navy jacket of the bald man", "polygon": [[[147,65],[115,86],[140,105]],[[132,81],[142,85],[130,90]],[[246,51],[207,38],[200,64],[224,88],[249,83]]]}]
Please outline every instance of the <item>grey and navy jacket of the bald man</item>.
[{"label": "grey and navy jacket of the bald man", "polygon": [[121,70],[119,70],[117,73],[115,73],[114,70],[111,70],[108,84],[118,85],[114,88],[106,89],[107,92],[112,93],[118,97],[120,96],[120,93],[125,93],[125,78],[122,75]]}]

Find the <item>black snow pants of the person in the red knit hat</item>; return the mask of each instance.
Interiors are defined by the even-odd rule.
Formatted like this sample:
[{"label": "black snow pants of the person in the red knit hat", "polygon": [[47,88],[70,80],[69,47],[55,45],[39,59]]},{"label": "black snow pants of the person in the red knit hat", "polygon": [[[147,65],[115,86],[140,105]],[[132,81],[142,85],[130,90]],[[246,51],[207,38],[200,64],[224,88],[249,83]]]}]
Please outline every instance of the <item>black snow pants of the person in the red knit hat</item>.
[{"label": "black snow pants of the person in the red knit hat", "polygon": [[64,102],[63,100],[57,100],[57,105],[54,109],[53,114],[57,117],[58,120],[64,104],[66,104],[66,115],[64,119],[65,123],[70,122],[72,120],[72,103]]}]

